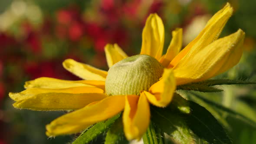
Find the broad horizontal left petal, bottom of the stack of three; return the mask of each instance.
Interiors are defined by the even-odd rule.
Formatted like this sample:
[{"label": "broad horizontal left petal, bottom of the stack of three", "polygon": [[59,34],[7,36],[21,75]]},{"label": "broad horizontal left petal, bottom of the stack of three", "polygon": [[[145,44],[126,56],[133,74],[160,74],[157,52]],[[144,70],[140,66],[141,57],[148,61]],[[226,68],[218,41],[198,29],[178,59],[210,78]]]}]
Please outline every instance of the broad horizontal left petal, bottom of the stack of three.
[{"label": "broad horizontal left petal, bottom of the stack of three", "polygon": [[70,110],[83,108],[94,101],[100,101],[106,97],[105,94],[101,93],[42,93],[17,101],[13,106],[35,111]]}]

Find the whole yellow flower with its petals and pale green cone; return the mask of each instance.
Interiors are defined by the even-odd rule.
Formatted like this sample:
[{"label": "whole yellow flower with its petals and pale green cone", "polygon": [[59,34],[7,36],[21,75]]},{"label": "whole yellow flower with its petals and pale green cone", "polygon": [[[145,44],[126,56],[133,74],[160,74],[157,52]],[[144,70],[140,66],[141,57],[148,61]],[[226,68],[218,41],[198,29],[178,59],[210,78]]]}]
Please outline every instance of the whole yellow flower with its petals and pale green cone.
[{"label": "whole yellow flower with its petals and pale green cone", "polygon": [[9,94],[16,101],[13,106],[37,111],[75,110],[48,124],[48,136],[77,133],[124,111],[126,138],[140,139],[150,122],[150,103],[166,107],[176,85],[210,79],[239,62],[244,32],[239,29],[218,39],[232,12],[227,3],[181,52],[182,29],[174,30],[163,56],[164,25],[157,14],[151,14],[143,29],[140,55],[128,57],[118,45],[108,44],[108,72],[67,59],[64,68],[86,80],[43,77],[26,82],[26,90]]}]

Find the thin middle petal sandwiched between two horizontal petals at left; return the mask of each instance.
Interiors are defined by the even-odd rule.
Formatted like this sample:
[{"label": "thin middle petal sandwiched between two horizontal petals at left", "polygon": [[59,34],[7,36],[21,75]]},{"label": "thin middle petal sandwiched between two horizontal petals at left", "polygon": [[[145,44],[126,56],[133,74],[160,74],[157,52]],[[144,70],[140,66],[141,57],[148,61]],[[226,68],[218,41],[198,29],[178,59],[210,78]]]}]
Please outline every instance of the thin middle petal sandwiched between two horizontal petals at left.
[{"label": "thin middle petal sandwiched between two horizontal petals at left", "polygon": [[104,93],[104,91],[100,88],[95,87],[72,87],[72,88],[59,88],[59,89],[52,89],[52,88],[28,88],[19,93],[9,93],[10,98],[14,101],[21,101],[27,98],[31,98],[35,95],[42,94],[42,93],[71,93],[71,94],[79,94],[79,93]]}]

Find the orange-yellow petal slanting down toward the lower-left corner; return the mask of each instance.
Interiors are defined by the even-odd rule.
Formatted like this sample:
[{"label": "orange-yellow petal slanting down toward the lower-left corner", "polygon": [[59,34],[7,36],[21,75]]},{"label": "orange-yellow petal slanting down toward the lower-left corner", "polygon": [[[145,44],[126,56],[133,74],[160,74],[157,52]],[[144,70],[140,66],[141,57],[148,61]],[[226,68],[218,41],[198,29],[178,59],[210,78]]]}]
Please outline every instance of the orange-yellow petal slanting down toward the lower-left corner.
[{"label": "orange-yellow petal slanting down toward the lower-left corner", "polygon": [[55,136],[80,132],[92,124],[112,118],[124,107],[124,95],[108,96],[101,101],[55,119],[46,125],[46,134]]}]

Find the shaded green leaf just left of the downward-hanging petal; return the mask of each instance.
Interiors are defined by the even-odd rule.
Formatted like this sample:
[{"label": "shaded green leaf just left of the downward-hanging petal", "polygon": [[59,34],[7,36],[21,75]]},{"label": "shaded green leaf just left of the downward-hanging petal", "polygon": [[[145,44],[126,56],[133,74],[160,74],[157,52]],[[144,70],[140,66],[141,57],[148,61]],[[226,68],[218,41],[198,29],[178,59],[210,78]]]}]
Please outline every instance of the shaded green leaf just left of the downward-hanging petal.
[{"label": "shaded green leaf just left of the downward-hanging petal", "polygon": [[120,116],[111,128],[108,130],[107,136],[105,138],[105,144],[128,144],[129,141],[126,140],[122,117]]}]

